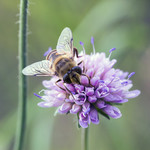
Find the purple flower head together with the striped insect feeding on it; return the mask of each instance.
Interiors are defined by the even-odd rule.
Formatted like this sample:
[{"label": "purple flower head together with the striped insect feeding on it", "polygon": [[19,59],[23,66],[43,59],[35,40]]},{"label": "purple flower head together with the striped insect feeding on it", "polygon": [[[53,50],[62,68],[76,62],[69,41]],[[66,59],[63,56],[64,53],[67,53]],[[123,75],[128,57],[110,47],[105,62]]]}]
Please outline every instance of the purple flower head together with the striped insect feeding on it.
[{"label": "purple flower head together with the striped insect feeding on it", "polygon": [[115,48],[110,49],[108,57],[104,52],[96,52],[92,37],[93,53],[88,55],[84,44],[80,44],[82,57],[73,47],[71,30],[65,28],[56,50],[49,49],[44,54],[46,60],[27,66],[22,72],[24,75],[52,76],[43,81],[46,89],[42,90],[42,95],[34,93],[42,100],[38,106],[58,107],[56,113],[76,114],[79,127],[87,128],[90,123],[99,124],[99,114],[108,119],[120,118],[121,111],[114,105],[128,102],[140,91],[130,91],[133,86],[130,78],[134,72],[129,74],[113,67],[117,60],[111,60],[110,56]]}]

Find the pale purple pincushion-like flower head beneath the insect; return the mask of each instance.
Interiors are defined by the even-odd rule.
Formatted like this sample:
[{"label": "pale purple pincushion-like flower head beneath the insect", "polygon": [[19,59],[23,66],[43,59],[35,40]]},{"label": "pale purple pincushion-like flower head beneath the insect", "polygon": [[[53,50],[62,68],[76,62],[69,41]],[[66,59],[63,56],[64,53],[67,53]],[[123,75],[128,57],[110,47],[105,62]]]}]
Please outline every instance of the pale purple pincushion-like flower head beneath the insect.
[{"label": "pale purple pincushion-like flower head beneath the insect", "polygon": [[[128,102],[128,99],[135,98],[140,94],[139,90],[129,91],[133,86],[130,77],[134,74],[123,72],[120,69],[113,68],[117,62],[116,59],[110,60],[110,55],[115,48],[110,50],[110,55],[106,57],[105,53],[95,53],[94,39],[91,38],[93,53],[90,55],[82,53],[81,58],[76,58],[76,62],[84,61],[80,67],[84,68],[84,74],[81,76],[81,84],[66,84],[59,82],[60,87],[67,87],[64,91],[56,86],[57,76],[50,80],[44,80],[43,85],[46,88],[43,96],[38,96],[43,101],[38,103],[40,107],[58,107],[57,112],[61,114],[76,114],[78,123],[82,128],[87,128],[92,122],[99,124],[99,113],[109,118],[120,118],[120,110],[115,106]],[[83,43],[80,42],[85,51]]]}]

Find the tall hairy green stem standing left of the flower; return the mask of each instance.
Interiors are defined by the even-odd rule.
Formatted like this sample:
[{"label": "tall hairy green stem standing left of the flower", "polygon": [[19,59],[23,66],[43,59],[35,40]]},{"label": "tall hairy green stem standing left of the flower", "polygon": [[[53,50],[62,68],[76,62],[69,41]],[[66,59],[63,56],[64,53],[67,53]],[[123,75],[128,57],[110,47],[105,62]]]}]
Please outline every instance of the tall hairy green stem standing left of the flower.
[{"label": "tall hairy green stem standing left of the flower", "polygon": [[27,12],[28,0],[20,0],[20,18],[19,18],[19,39],[18,39],[18,52],[19,52],[19,89],[18,89],[18,124],[14,150],[23,149],[23,141],[26,126],[26,103],[27,103],[27,82],[26,77],[22,74],[22,69],[26,66],[27,54]]}]

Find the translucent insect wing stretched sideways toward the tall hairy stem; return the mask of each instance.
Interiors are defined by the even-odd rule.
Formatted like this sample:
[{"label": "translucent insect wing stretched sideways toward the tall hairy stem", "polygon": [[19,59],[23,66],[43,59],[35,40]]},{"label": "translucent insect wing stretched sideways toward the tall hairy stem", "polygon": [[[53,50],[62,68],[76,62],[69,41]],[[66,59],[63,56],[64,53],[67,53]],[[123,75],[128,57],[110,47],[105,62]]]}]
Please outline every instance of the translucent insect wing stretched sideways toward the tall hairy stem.
[{"label": "translucent insect wing stretched sideways toward the tall hairy stem", "polygon": [[22,70],[24,75],[28,76],[52,76],[54,71],[51,69],[51,62],[49,60],[43,60],[35,62]]}]

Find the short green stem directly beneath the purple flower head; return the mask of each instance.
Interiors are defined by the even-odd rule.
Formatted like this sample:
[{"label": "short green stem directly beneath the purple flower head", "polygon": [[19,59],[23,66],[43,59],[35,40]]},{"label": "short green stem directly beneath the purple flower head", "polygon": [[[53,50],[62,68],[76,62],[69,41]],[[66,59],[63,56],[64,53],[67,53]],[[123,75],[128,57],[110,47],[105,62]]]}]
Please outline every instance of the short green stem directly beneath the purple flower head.
[{"label": "short green stem directly beneath the purple flower head", "polygon": [[81,137],[82,150],[88,150],[88,130],[89,128],[82,129],[82,137]]}]

